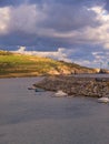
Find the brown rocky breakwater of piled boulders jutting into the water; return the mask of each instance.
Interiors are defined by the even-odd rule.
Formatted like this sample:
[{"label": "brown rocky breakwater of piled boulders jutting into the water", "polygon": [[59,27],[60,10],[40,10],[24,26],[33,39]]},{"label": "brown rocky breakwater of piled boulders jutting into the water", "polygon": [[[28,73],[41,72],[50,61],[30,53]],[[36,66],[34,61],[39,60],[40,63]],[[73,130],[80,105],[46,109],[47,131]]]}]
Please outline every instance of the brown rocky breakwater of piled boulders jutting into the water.
[{"label": "brown rocky breakwater of piled boulders jutting into the water", "polygon": [[102,97],[109,95],[109,78],[47,76],[33,84],[47,91],[63,91],[69,96]]}]

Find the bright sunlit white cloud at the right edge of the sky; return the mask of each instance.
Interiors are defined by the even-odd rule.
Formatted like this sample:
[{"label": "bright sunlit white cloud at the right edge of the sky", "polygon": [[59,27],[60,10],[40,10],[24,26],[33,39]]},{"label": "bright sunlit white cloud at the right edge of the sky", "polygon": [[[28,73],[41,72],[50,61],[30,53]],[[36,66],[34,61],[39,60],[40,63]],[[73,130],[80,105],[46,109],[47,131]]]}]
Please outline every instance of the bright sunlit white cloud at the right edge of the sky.
[{"label": "bright sunlit white cloud at the right edge of the sky", "polygon": [[101,25],[96,29],[91,28],[89,29],[90,32],[87,32],[93,35],[96,42],[101,43],[105,49],[109,49],[109,12],[103,7],[93,7],[89,10],[97,13],[97,19],[101,22]]}]

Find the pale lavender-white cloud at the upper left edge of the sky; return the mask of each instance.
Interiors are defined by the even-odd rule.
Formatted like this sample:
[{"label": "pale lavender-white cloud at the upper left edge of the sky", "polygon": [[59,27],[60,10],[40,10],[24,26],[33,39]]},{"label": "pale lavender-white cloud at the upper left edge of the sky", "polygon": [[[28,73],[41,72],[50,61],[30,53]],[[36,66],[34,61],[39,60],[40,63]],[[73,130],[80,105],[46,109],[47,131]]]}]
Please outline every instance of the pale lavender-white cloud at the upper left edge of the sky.
[{"label": "pale lavender-white cloud at the upper left edge of the sky", "polygon": [[37,34],[38,24],[44,17],[43,10],[37,4],[0,8],[0,34],[13,31]]}]

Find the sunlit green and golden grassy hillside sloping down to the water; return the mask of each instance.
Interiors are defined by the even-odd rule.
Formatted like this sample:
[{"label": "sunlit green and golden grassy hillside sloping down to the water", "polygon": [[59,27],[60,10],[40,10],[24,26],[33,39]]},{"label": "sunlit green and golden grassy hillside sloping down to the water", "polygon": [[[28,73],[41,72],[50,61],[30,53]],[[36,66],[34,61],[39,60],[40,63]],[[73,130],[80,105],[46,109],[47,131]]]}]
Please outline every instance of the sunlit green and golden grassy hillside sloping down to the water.
[{"label": "sunlit green and golden grassy hillside sloping down to the water", "polygon": [[75,63],[0,51],[0,78],[34,76],[59,74],[61,72],[70,74],[73,73],[73,70],[92,72],[91,69],[82,68]]}]

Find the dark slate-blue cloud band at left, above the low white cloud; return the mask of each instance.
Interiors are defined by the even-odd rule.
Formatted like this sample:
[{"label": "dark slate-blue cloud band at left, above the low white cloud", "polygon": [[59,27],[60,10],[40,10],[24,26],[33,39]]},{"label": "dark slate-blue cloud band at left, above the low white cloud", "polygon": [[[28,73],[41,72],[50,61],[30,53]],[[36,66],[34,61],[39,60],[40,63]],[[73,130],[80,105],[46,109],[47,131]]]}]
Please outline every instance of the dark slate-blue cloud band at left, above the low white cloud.
[{"label": "dark slate-blue cloud band at left, above the low white cloud", "polygon": [[[54,51],[60,47],[68,47],[70,44],[60,39],[50,39],[46,37],[38,37],[36,34],[27,34],[21,32],[13,32],[3,37],[0,37],[0,44],[2,50],[17,50],[18,45],[27,47],[27,50],[36,51]],[[0,49],[1,49],[0,48]]]}]

